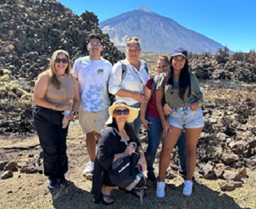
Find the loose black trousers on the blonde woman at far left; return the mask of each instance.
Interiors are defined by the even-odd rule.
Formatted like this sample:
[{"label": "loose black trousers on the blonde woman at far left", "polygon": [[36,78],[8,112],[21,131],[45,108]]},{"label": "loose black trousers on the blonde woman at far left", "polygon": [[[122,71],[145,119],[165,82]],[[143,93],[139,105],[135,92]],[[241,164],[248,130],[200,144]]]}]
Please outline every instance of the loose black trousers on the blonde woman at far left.
[{"label": "loose black trousers on the blonde woman at far left", "polygon": [[63,176],[68,171],[66,135],[69,126],[62,128],[64,116],[61,111],[35,106],[33,116],[40,145],[43,148],[45,176]]}]

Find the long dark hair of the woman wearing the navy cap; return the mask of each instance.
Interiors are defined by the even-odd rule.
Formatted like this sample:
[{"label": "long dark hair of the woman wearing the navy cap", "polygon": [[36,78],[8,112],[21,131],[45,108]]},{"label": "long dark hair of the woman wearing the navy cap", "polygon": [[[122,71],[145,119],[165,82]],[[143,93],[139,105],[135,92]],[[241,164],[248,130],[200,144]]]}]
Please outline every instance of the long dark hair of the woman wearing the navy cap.
[{"label": "long dark hair of the woman wearing the navy cap", "polygon": [[[166,86],[171,85],[171,93],[173,93],[173,56],[171,56],[170,59],[170,70],[166,75]],[[187,97],[190,97],[191,94],[191,84],[190,84],[190,73],[189,73],[189,68],[188,68],[188,61],[186,59],[184,67],[180,71],[180,77],[178,79],[178,95],[180,99],[184,100],[184,95],[185,92],[189,88],[189,91],[187,93]]]}]

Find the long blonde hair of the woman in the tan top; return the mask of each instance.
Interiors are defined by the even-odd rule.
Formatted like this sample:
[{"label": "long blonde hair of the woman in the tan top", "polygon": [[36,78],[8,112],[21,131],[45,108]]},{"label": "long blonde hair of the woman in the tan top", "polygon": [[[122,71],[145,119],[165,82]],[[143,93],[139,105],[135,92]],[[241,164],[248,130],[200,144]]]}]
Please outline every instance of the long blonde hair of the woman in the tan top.
[{"label": "long blonde hair of the woman in the tan top", "polygon": [[[59,50],[55,51],[52,54],[52,58],[50,59],[49,67],[45,72],[48,73],[48,75],[49,75],[48,85],[52,84],[57,89],[59,89],[61,87],[61,83],[59,82],[59,79],[57,79],[57,72],[56,72],[56,69],[55,69],[55,60],[57,59],[57,56],[59,54],[64,54],[66,56],[66,59],[69,60],[69,65],[66,67],[65,73],[67,73],[69,75],[72,74],[72,72],[71,72],[71,63],[70,63],[70,59],[69,59],[69,53],[62,50],[62,49],[59,49]],[[45,72],[38,75],[38,78],[40,78]]]}]

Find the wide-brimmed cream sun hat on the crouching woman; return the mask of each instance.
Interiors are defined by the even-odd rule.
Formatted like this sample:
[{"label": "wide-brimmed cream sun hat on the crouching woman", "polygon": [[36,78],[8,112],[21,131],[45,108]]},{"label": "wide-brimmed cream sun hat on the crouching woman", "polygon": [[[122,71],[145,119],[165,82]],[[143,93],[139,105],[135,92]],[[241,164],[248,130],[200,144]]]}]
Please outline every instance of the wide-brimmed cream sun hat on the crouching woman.
[{"label": "wide-brimmed cream sun hat on the crouching woman", "polygon": [[127,109],[129,109],[127,123],[133,122],[137,118],[138,111],[140,110],[139,108],[129,107],[125,102],[122,101],[113,102],[113,104],[110,107],[108,107],[109,118],[108,121],[106,121],[105,123],[106,125],[113,123],[113,112],[117,107],[126,107]]}]

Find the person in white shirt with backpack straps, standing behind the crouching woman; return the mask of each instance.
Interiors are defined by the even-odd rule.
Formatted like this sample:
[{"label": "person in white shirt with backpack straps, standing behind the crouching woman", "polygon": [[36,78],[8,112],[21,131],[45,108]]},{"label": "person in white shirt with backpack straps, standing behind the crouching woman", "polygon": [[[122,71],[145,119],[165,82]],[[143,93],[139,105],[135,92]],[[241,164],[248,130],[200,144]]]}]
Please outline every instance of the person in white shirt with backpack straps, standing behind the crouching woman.
[{"label": "person in white shirt with backpack straps, standing behind the crouching woman", "polygon": [[[108,86],[109,92],[115,95],[115,100],[121,100],[127,103],[129,107],[135,108],[140,107],[140,103],[148,102],[148,98],[144,95],[144,86],[147,84],[149,76],[145,69],[147,65],[139,59],[140,44],[140,40],[136,37],[127,40],[127,57],[113,65],[113,74]],[[138,137],[141,128],[140,116],[130,125]]]}]

